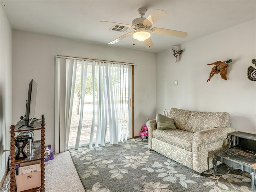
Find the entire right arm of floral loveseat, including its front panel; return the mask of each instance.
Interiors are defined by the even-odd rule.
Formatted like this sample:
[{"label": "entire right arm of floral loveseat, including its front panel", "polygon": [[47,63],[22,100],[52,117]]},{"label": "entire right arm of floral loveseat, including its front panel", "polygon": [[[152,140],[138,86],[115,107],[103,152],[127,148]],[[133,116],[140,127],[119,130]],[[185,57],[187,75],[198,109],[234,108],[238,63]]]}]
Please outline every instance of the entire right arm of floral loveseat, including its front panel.
[{"label": "entire right arm of floral loveseat, including its front panel", "polygon": [[194,133],[192,141],[193,170],[202,173],[212,168],[214,154],[228,148],[229,134],[235,131],[234,128],[227,126]]}]

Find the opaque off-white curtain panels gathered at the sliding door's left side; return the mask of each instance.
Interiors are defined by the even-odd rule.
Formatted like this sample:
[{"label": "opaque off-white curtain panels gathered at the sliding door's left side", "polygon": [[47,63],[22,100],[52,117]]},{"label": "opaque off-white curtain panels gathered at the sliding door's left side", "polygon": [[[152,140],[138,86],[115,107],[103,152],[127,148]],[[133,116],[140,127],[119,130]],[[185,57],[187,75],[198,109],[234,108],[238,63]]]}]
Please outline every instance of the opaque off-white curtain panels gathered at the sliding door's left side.
[{"label": "opaque off-white curtain panels gathered at the sliding door's left side", "polygon": [[76,78],[76,59],[56,58],[55,66],[55,153],[68,149]]}]

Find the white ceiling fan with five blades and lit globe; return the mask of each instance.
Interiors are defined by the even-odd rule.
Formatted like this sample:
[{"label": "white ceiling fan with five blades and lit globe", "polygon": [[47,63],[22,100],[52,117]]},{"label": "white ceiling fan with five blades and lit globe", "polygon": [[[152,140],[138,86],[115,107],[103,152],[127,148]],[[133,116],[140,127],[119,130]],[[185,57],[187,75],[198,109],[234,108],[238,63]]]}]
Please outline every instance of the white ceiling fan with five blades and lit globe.
[{"label": "white ceiling fan with five blades and lit globe", "polygon": [[122,29],[128,29],[128,28],[133,28],[135,31],[134,32],[128,32],[124,34],[123,36],[118,37],[117,39],[109,42],[108,44],[115,44],[122,39],[132,35],[132,37],[136,40],[143,41],[145,43],[145,46],[147,49],[153,48],[153,42],[150,38],[151,34],[150,31],[153,33],[158,33],[158,34],[164,34],[164,35],[170,35],[170,36],[176,36],[176,37],[181,37],[185,38],[188,33],[183,32],[183,31],[176,31],[176,30],[170,30],[170,29],[163,29],[163,28],[151,28],[152,24],[157,22],[159,19],[162,17],[166,16],[167,13],[164,12],[163,10],[156,9],[150,16],[147,18],[144,18],[143,16],[146,13],[145,8],[139,8],[138,13],[140,14],[141,17],[136,18],[132,21],[132,25],[130,24],[123,24],[123,23],[116,23],[116,22],[109,22],[109,21],[100,21],[100,23],[106,23],[106,24],[114,24],[116,28],[122,28]]}]

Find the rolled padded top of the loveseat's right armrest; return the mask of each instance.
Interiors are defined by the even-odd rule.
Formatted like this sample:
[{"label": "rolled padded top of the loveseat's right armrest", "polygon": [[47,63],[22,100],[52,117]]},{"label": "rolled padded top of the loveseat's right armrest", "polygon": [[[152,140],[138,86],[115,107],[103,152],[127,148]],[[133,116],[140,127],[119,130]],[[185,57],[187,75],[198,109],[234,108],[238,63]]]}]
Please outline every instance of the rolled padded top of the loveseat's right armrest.
[{"label": "rolled padded top of the loveseat's right armrest", "polygon": [[233,132],[236,132],[236,130],[230,126],[198,131],[193,135],[193,146],[194,144],[197,146],[202,144],[207,145],[225,140]]}]

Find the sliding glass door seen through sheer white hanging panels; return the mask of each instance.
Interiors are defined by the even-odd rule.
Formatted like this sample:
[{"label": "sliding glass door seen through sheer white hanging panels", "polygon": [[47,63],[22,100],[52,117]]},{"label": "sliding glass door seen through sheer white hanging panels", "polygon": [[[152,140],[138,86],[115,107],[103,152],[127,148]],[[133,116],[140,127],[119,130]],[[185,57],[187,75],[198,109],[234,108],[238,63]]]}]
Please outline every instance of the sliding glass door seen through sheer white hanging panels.
[{"label": "sliding glass door seen through sheer white hanging panels", "polygon": [[132,136],[132,67],[77,62],[68,148],[116,144]]}]

